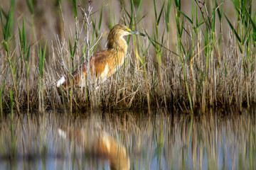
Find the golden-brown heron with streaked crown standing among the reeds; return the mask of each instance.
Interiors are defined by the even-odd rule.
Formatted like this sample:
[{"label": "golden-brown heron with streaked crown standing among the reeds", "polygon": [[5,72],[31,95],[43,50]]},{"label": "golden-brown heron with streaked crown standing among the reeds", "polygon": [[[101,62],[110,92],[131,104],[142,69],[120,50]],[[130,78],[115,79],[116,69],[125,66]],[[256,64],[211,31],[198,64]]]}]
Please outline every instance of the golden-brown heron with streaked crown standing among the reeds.
[{"label": "golden-brown heron with streaked crown standing among the reeds", "polygon": [[[127,55],[127,42],[124,40],[124,35],[131,34],[145,36],[143,33],[119,24],[110,30],[110,34],[107,36],[107,50],[97,52],[90,58],[90,74],[94,75],[93,81],[97,79],[99,83],[102,83],[117,72],[119,67],[122,67]],[[86,86],[87,67],[87,62],[83,63],[71,74],[71,79],[63,76],[57,82],[57,86],[62,85],[64,89],[70,88],[72,84],[77,84],[80,87]]]}]

